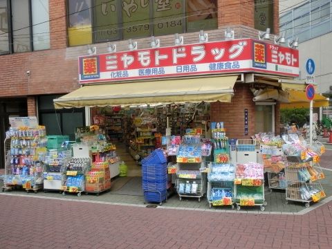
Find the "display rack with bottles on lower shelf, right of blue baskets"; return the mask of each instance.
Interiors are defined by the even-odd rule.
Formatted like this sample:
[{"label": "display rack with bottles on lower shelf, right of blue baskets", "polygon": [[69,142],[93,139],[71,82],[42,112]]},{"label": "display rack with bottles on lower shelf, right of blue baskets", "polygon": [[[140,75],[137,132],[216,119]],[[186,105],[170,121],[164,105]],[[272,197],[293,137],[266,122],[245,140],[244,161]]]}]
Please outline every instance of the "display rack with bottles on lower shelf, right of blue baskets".
[{"label": "display rack with bottles on lower shelf, right of blue baskets", "polygon": [[[192,130],[190,131],[192,132]],[[201,136],[185,135],[176,156],[176,191],[180,201],[183,197],[199,199],[205,194],[205,177],[200,171],[205,167],[201,154]]]}]

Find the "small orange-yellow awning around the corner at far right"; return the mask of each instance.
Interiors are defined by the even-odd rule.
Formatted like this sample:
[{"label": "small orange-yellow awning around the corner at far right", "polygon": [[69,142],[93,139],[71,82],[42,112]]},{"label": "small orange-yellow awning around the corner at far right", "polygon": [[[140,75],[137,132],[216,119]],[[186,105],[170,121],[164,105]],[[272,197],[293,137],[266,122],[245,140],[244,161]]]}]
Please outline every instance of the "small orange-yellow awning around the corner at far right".
[{"label": "small orange-yellow awning around the corner at far right", "polygon": [[[280,104],[280,108],[309,108],[310,100],[306,98],[306,93],[304,91],[288,91],[290,103]],[[313,107],[328,107],[329,100],[320,94],[315,94],[313,98]]]}]

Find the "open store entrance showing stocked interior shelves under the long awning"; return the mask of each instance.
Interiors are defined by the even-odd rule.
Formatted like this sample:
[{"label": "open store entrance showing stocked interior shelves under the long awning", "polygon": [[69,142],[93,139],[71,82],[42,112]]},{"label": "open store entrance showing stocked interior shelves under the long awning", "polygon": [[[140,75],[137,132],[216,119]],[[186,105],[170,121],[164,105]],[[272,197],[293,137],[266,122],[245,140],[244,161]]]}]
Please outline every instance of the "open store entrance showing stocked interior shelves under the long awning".
[{"label": "open store entrance showing stocked interior shelves under the long awning", "polygon": [[[128,177],[141,176],[141,160],[154,149],[165,147],[162,136],[183,136],[188,128],[199,128],[203,137],[210,121],[210,104],[160,104],[151,106],[94,107],[91,124],[98,124],[116,153],[127,165]],[[167,129],[168,127],[168,129]]]}]

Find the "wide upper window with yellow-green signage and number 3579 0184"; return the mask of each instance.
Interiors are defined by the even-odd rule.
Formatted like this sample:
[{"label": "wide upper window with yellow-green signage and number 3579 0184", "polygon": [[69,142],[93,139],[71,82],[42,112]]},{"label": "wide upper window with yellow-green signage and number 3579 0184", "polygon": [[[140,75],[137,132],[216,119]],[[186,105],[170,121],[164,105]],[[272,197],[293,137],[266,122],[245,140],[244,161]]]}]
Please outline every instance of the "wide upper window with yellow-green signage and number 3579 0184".
[{"label": "wide upper window with yellow-green signage and number 3579 0184", "polygon": [[216,0],[68,0],[69,46],[217,28]]}]

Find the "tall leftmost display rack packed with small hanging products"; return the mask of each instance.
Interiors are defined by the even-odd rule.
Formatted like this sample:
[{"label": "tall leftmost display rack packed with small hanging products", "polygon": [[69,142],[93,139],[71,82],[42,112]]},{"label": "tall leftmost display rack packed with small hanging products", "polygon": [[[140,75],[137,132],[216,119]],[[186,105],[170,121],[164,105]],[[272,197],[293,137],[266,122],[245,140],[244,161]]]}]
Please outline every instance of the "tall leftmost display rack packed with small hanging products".
[{"label": "tall leftmost display rack packed with small hanging products", "polygon": [[2,191],[17,186],[37,193],[43,186],[43,162],[46,155],[45,127],[10,127],[6,133],[5,180]]}]

